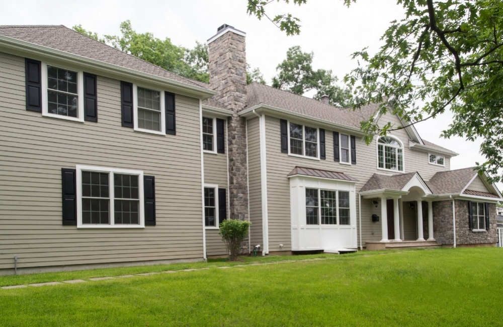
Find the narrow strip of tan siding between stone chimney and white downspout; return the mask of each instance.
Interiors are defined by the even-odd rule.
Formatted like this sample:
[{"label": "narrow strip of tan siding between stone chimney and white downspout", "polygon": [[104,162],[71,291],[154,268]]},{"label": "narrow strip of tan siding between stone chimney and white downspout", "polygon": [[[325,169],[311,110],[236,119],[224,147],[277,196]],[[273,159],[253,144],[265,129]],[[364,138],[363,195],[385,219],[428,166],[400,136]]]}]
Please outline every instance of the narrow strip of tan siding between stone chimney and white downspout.
[{"label": "narrow strip of tan siding between stone chimney and white downspout", "polygon": [[260,128],[259,118],[246,121],[248,144],[248,197],[250,210],[250,242],[251,246],[261,244],[262,238],[262,188],[260,163]]}]

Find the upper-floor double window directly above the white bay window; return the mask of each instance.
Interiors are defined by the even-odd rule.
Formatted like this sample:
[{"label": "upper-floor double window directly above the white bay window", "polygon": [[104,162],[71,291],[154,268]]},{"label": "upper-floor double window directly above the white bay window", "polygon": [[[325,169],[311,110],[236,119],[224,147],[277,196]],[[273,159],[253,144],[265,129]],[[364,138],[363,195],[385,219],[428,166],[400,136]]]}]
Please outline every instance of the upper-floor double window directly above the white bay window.
[{"label": "upper-floor double window directly above the white bay window", "polygon": [[319,158],[317,128],[289,123],[288,142],[289,154]]}]

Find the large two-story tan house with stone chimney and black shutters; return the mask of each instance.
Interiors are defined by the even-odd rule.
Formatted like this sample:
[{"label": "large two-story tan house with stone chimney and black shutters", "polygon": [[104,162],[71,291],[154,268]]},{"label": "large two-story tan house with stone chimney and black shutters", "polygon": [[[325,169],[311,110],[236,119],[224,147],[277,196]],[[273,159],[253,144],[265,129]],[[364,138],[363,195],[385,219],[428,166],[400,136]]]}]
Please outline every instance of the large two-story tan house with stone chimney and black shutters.
[{"label": "large two-story tan house with stone chimney and black shutters", "polygon": [[[0,274],[225,255],[496,242],[498,190],[413,126],[362,141],[351,111],[246,85],[245,33],[210,84],[64,26],[0,26]],[[381,120],[401,126],[397,116]]]}]

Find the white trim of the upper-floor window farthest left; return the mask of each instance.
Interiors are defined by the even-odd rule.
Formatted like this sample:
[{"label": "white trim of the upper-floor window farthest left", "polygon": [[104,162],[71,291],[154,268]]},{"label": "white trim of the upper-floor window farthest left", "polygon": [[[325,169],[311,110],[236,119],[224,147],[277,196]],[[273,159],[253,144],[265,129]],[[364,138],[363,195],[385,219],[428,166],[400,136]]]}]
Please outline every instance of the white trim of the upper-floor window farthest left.
[{"label": "white trim of the upper-floor window farthest left", "polygon": [[42,116],[51,117],[57,119],[64,119],[70,121],[76,121],[83,123],[84,122],[84,75],[81,70],[61,67],[60,65],[49,64],[49,66],[76,71],[77,72],[77,117],[68,117],[62,115],[56,115],[49,113],[49,105],[47,104],[48,96],[47,96],[47,63],[42,62],[41,65],[41,89],[42,89]]}]

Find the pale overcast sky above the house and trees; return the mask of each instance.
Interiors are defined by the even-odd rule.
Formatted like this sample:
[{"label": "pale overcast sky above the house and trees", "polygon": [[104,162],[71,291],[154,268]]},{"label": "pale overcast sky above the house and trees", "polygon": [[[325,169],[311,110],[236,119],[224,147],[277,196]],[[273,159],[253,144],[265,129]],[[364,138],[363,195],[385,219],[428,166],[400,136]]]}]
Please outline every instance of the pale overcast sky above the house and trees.
[{"label": "pale overcast sky above the house and trees", "polygon": [[[129,19],[139,33],[151,32],[157,38],[170,38],[174,44],[192,48],[196,40],[206,42],[217,27],[228,24],[246,32],[246,59],[259,67],[268,84],[276,74],[276,66],[285,59],[286,51],[300,45],[303,51],[314,52],[315,69],[331,69],[340,79],[357,66],[351,54],[368,46],[375,52],[382,44],[380,37],[389,22],[400,19],[403,9],[396,0],[358,0],[350,8],[342,0],[310,0],[301,7],[273,2],[268,14],[290,12],[301,19],[301,34],[287,37],[266,18],[262,21],[246,15],[246,0],[86,0],[42,1],[0,0],[2,25],[64,25],[83,28],[99,35],[119,35],[119,25]],[[484,158],[479,154],[480,142],[461,138],[440,138],[449,125],[449,114],[417,124],[420,135],[449,148],[458,156],[451,160],[451,169],[474,166]],[[501,189],[501,184],[498,184]]]}]

